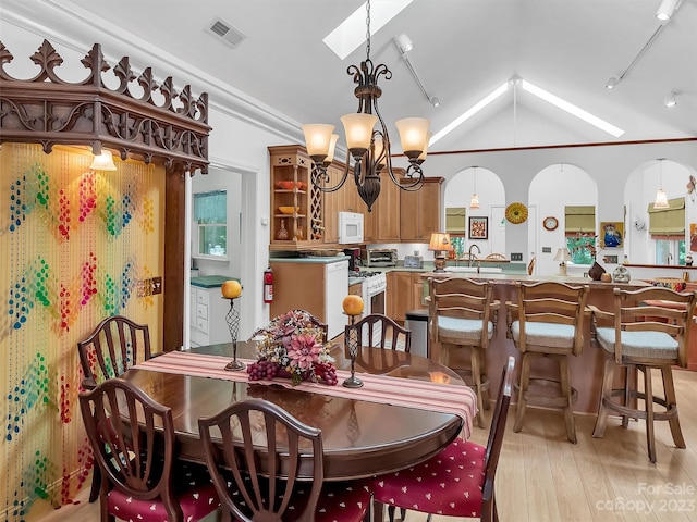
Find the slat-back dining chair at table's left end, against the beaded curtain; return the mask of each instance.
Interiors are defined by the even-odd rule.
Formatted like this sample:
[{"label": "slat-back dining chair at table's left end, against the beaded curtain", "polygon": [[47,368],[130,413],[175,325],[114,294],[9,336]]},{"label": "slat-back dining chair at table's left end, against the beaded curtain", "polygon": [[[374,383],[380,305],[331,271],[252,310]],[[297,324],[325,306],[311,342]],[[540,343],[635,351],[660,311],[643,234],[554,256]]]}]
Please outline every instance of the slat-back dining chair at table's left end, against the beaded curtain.
[{"label": "slat-back dining chair at table's left end, against the beaded curtain", "polygon": [[[123,375],[129,368],[150,359],[150,331],[147,324],[137,324],[123,315],[103,319],[93,332],[77,343],[82,387],[94,389],[98,383]],[[93,470],[89,501],[99,496],[99,468]]]}]

